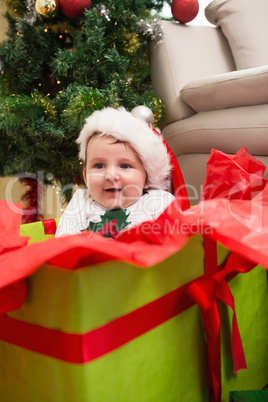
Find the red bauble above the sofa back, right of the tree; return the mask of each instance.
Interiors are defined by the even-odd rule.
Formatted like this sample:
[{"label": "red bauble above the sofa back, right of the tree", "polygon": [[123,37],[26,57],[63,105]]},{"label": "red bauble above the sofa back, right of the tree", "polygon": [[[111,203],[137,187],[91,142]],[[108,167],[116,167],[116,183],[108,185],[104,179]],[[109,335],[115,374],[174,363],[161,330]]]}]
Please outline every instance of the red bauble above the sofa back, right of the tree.
[{"label": "red bauble above the sofa back, right of the tree", "polygon": [[199,3],[197,0],[173,0],[171,13],[174,20],[186,24],[192,21],[198,14]]}]

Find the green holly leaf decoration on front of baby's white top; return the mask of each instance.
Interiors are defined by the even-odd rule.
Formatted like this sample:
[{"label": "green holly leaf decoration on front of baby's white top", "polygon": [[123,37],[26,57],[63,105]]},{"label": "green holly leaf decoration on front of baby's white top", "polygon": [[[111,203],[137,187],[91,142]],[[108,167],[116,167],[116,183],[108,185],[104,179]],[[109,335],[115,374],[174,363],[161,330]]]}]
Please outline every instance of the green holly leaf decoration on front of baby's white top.
[{"label": "green holly leaf decoration on front of baby's white top", "polygon": [[127,222],[126,209],[108,209],[101,216],[100,222],[89,222],[87,230],[100,233],[104,237],[116,238],[121,230],[130,224]]}]

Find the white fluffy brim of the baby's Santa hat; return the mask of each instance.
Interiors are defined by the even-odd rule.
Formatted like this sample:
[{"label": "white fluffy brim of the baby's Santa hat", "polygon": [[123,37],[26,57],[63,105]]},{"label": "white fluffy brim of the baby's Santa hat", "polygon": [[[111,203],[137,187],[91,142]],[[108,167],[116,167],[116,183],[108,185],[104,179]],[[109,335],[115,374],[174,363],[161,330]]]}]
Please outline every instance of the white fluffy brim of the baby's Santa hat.
[{"label": "white fluffy brim of the baby's Santa hat", "polygon": [[80,146],[79,157],[85,161],[90,137],[96,132],[125,141],[136,151],[147,173],[150,188],[168,190],[170,157],[161,135],[139,117],[134,117],[124,108],[104,108],[95,111],[86,119],[76,142]]}]

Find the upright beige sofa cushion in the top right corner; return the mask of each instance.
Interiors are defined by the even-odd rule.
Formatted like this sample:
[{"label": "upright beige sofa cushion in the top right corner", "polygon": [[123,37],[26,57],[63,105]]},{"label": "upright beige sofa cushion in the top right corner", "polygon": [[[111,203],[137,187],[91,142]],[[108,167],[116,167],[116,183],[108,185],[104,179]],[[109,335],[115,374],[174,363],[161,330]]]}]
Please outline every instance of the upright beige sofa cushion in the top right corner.
[{"label": "upright beige sofa cushion in the top right corner", "polygon": [[205,15],[222,29],[238,70],[268,64],[267,0],[214,0]]}]

